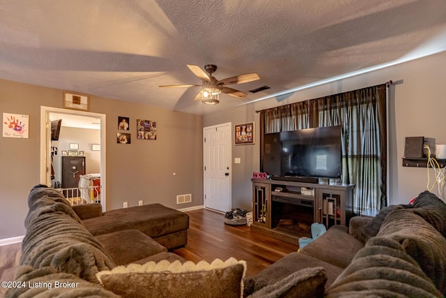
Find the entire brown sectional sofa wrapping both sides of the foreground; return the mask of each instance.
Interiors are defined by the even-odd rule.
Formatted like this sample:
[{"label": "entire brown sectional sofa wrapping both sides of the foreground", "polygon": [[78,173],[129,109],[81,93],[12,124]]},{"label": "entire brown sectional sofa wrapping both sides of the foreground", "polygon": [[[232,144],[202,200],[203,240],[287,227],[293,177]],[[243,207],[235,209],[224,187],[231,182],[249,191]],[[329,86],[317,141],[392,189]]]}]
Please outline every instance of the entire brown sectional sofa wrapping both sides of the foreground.
[{"label": "entire brown sectional sofa wrapping both sides of the foreground", "polygon": [[[162,260],[176,267],[178,263],[187,265],[162,245],[169,237],[176,238],[178,232],[182,234],[187,226],[186,217],[179,211],[172,209],[170,215],[178,217],[167,216],[166,223],[151,225],[144,214],[150,216],[151,210],[157,210],[153,218],[158,221],[162,220],[158,217],[162,211],[169,210],[161,205],[104,214],[95,205],[73,209],[58,191],[45,186],[31,190],[28,204],[22,257],[15,273],[15,283],[25,286],[8,289],[6,297],[179,298],[187,290],[189,297],[446,295],[446,204],[429,192],[421,193],[413,204],[385,207],[376,218],[354,217],[349,228],[328,229],[300,252],[290,253],[259,274],[245,277],[244,288],[240,284],[246,271],[243,264],[179,274],[165,273],[163,269],[141,275],[141,268],[149,261],[156,262],[156,266],[162,265]],[[145,211],[132,211],[140,209]],[[116,221],[109,218],[114,212]],[[141,223],[151,228],[139,224],[138,216],[130,214],[139,214]],[[185,244],[181,240],[173,243],[168,246]],[[122,267],[124,272],[120,271]],[[190,265],[184,267],[189,269]],[[114,273],[115,269],[118,271]],[[111,275],[107,276],[107,272]],[[106,274],[101,280],[104,287],[98,273]],[[111,284],[107,284],[107,278]],[[76,287],[45,287],[59,281]],[[180,283],[182,290],[178,288]],[[201,290],[197,292],[197,288]]]}]

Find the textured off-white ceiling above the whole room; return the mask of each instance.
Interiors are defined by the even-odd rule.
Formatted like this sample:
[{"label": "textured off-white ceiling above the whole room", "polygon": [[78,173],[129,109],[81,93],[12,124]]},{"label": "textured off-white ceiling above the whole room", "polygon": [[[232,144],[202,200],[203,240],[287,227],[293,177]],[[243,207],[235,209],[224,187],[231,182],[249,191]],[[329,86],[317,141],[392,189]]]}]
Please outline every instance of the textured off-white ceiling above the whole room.
[{"label": "textured off-white ceiling above the whole room", "polygon": [[[445,0],[0,0],[0,77],[207,114],[446,50]],[[186,67],[218,66],[219,105]],[[267,85],[256,94],[249,90]]]}]

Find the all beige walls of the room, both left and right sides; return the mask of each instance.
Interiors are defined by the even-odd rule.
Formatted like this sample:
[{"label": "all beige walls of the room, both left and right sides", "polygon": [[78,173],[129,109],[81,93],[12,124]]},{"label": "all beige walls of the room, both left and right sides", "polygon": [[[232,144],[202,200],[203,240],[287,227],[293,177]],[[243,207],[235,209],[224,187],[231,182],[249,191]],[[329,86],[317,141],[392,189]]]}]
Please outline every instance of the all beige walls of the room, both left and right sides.
[{"label": "all beige walls of the room, both left and right sides", "polygon": [[[408,202],[426,189],[427,175],[425,168],[402,167],[404,138],[424,135],[446,144],[446,52],[205,117],[93,96],[91,112],[107,114],[107,209],[121,208],[124,200],[130,206],[144,200],[177,207],[176,195],[184,193],[192,193],[193,202],[177,208],[203,204],[203,126],[247,121],[258,126],[255,110],[389,80],[400,81],[389,92],[390,204]],[[61,107],[61,94],[57,89],[0,80],[0,111],[30,115],[28,140],[0,138],[0,239],[24,234],[26,197],[39,181],[40,105]],[[139,117],[157,121],[158,140],[116,144],[118,116],[130,117],[131,124]],[[250,178],[259,170],[258,131],[256,127],[256,144],[232,147],[233,158],[241,160],[232,167],[234,208],[251,208]]]}]

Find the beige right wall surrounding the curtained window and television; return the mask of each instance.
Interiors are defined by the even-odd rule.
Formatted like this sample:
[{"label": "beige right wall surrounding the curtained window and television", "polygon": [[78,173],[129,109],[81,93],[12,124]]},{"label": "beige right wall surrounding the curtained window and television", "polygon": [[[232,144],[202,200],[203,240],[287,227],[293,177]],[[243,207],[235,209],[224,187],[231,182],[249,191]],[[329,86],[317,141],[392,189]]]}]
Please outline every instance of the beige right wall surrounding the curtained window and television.
[{"label": "beige right wall surrounding the curtained window and television", "polygon": [[[434,137],[437,143],[446,144],[446,52],[297,91],[282,98],[243,105],[231,112],[211,114],[203,117],[203,126],[252,120],[259,124],[255,110],[383,84],[389,80],[399,81],[389,90],[389,201],[390,204],[406,203],[426,190],[427,172],[426,168],[402,166],[405,137]],[[259,139],[258,135],[256,139]],[[259,142],[250,146],[233,146],[233,157],[238,156],[244,158],[241,165],[233,164],[232,206],[246,208],[251,206],[249,179],[253,171],[259,170]],[[432,170],[430,174],[433,179]]]}]

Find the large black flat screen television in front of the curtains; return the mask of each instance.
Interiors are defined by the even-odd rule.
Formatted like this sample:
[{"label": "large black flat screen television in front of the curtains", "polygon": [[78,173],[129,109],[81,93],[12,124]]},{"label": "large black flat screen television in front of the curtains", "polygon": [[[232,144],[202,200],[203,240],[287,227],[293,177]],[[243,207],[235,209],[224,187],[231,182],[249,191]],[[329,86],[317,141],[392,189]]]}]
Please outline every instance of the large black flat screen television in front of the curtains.
[{"label": "large black flat screen television in front of the curtains", "polygon": [[273,179],[341,178],[341,126],[263,135],[263,169]]}]

